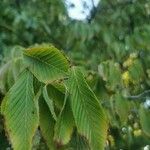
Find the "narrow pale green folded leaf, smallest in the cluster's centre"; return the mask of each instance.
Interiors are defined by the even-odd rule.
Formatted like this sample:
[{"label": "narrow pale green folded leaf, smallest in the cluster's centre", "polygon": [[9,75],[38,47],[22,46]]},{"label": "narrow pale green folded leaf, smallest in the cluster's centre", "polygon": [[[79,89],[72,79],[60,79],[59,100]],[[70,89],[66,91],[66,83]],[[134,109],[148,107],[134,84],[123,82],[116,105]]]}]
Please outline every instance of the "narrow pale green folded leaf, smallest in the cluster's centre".
[{"label": "narrow pale green folded leaf, smallest in the cluster's centre", "polygon": [[57,116],[56,116],[55,110],[54,110],[53,100],[51,98],[49,98],[49,95],[47,93],[47,86],[44,86],[44,88],[43,88],[43,97],[44,97],[44,99],[45,99],[45,101],[46,101],[46,103],[47,103],[47,105],[49,107],[49,110],[50,110],[53,118],[55,120],[57,120]]}]

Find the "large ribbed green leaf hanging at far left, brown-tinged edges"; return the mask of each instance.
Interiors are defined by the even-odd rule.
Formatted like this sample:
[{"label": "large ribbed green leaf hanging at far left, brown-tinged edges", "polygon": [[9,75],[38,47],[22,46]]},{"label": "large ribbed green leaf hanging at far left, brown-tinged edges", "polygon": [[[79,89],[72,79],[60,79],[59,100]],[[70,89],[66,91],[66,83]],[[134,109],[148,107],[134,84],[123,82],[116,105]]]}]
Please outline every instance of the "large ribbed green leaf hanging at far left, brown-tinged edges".
[{"label": "large ribbed green leaf hanging at far left, brown-tinged edges", "polygon": [[38,126],[34,102],[33,76],[25,70],[2,102],[5,126],[14,150],[30,150]]}]

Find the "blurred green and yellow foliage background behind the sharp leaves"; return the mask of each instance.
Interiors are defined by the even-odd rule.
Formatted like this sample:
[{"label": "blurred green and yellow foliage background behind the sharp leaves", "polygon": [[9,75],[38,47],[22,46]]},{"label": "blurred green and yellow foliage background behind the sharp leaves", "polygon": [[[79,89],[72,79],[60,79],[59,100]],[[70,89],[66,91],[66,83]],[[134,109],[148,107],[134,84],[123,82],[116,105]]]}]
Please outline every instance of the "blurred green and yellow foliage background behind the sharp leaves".
[{"label": "blurred green and yellow foliage background behind the sharp leaves", "polygon": [[[85,69],[108,113],[106,149],[149,150],[150,1],[101,0],[85,20],[74,20],[63,0],[1,0],[1,64],[14,58],[15,46],[43,42],[63,49],[72,64]],[[1,71],[1,97],[4,80]],[[2,123],[0,141],[6,149]]]}]

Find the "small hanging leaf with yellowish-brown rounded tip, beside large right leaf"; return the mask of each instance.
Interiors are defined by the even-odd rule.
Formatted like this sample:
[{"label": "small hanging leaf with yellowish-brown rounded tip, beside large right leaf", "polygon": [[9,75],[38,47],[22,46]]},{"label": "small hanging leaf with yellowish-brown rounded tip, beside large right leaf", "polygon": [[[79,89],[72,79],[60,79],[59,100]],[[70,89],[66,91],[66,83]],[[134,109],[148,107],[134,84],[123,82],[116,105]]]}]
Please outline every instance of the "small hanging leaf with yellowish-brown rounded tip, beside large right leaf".
[{"label": "small hanging leaf with yellowish-brown rounded tip, beside large right leaf", "polygon": [[69,104],[68,94],[66,93],[64,106],[55,126],[55,136],[54,139],[58,145],[66,145],[70,139],[74,127],[74,119]]}]

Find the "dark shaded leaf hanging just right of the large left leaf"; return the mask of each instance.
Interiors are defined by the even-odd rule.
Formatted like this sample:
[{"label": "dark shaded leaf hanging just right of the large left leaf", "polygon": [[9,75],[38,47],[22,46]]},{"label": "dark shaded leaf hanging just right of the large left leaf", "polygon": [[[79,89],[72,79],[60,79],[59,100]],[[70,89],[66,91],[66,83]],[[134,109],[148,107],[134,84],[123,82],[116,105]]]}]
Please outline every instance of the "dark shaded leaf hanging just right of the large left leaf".
[{"label": "dark shaded leaf hanging just right of the large left leaf", "polygon": [[49,149],[54,150],[53,137],[55,120],[53,119],[46,102],[42,98],[39,100],[39,112],[41,133]]}]

